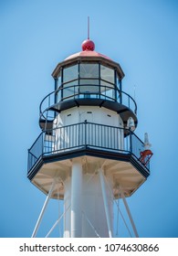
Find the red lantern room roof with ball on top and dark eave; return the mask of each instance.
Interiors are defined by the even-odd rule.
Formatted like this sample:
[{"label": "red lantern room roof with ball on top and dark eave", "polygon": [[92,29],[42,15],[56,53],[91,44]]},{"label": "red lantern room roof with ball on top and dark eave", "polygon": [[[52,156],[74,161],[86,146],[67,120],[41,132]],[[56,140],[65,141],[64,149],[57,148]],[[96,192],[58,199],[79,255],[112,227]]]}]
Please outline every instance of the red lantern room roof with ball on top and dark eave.
[{"label": "red lantern room roof with ball on top and dark eave", "polygon": [[117,62],[114,62],[109,57],[100,54],[99,52],[95,51],[95,44],[92,40],[89,38],[81,44],[81,51],[74,53],[72,55],[69,55],[68,58],[64,59],[64,61],[59,62],[56,69],[54,69],[52,76],[53,78],[58,78],[60,69],[66,65],[71,65],[75,61],[84,60],[84,61],[100,61],[104,62],[105,64],[109,65],[110,67],[117,69],[117,72],[119,74],[120,79],[123,79],[124,72],[120,67],[120,64]]}]

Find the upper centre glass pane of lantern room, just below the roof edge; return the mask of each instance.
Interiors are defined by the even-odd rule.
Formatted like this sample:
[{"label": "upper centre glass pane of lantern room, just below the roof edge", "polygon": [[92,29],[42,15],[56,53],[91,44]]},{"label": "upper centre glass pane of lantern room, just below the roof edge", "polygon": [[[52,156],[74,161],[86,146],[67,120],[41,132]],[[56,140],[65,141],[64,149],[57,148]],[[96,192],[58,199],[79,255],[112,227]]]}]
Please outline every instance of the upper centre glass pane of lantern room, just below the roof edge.
[{"label": "upper centre glass pane of lantern room, just below the roof edge", "polygon": [[96,63],[81,63],[79,66],[80,78],[99,78],[99,64]]}]

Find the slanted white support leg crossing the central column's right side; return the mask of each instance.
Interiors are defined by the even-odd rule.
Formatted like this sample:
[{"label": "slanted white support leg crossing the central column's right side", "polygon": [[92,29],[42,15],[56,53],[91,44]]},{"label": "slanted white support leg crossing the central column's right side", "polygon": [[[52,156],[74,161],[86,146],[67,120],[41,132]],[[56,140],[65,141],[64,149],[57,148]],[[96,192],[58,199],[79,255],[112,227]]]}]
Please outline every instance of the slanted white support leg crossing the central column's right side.
[{"label": "slanted white support leg crossing the central column's right side", "polygon": [[99,169],[99,179],[100,179],[100,184],[101,184],[102,197],[103,197],[103,201],[104,201],[104,208],[105,208],[105,213],[106,213],[109,237],[112,238],[110,211],[109,211],[109,205],[108,205],[108,200],[107,200],[105,181],[104,181],[104,177],[103,177],[101,169]]}]

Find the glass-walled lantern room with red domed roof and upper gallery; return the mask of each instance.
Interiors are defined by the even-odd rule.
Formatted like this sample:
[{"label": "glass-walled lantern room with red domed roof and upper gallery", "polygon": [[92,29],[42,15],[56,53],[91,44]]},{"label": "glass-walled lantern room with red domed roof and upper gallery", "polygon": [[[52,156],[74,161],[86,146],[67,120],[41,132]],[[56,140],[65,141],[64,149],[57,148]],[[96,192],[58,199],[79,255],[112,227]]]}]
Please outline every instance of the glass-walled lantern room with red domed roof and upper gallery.
[{"label": "glass-walled lantern room with red domed roof and upper gallery", "polygon": [[[47,95],[40,105],[39,124],[42,130],[54,124],[51,121],[55,117],[52,114],[51,118],[49,112],[64,112],[79,106],[106,108],[120,115],[122,127],[127,127],[129,118],[134,127],[137,126],[137,105],[128,93],[122,91],[124,73],[120,64],[94,51],[91,40],[82,43],[82,51],[58,63],[52,76],[55,91]],[[124,134],[127,135],[127,131]]]}]

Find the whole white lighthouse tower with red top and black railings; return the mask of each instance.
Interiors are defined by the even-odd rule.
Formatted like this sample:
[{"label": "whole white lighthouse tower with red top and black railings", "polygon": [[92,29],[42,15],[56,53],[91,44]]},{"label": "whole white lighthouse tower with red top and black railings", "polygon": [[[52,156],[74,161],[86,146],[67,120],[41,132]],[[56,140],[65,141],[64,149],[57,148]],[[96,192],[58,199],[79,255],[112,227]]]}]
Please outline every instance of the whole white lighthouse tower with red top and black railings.
[{"label": "whole white lighthouse tower with red top and black railings", "polygon": [[120,64],[89,38],[81,48],[54,69],[55,89],[39,108],[42,132],[28,150],[27,177],[47,195],[32,237],[50,198],[63,200],[63,237],[113,237],[113,201],[126,205],[150,175],[148,135],[145,148]]}]

